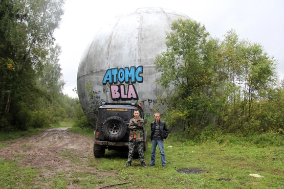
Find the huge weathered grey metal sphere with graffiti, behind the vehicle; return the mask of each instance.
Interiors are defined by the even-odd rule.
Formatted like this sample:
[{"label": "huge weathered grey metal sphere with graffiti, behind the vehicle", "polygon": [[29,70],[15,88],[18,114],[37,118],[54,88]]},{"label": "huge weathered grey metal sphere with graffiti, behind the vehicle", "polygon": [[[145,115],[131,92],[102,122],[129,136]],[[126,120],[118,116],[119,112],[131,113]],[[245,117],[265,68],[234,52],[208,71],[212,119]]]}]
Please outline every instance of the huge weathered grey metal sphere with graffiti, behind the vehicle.
[{"label": "huge weathered grey metal sphere with graffiti, behind the vehicle", "polygon": [[105,102],[139,102],[146,116],[163,95],[155,83],[154,60],[166,51],[171,23],[185,14],[162,8],[140,8],[115,17],[87,46],[77,75],[78,96],[85,115],[95,125],[96,111]]}]

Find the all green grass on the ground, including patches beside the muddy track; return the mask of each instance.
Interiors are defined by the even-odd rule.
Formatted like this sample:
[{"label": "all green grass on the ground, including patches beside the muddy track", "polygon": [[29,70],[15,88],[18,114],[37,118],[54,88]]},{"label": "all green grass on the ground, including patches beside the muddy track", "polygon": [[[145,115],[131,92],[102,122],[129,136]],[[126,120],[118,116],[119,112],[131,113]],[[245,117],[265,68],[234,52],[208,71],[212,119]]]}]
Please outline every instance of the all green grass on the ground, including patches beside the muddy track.
[{"label": "all green grass on the ground, including patches beside the muddy track", "polygon": [[[73,129],[76,133],[92,135]],[[92,139],[92,138],[90,138]],[[0,141],[0,150],[3,142]],[[148,144],[150,149],[151,144]],[[92,149],[90,149],[92,151]],[[145,152],[146,164],[150,163],[150,150]],[[159,150],[156,152],[156,166],[143,168],[139,159],[133,166],[125,168],[125,155],[106,151],[106,157],[88,158],[87,167],[96,167],[99,172],[59,172],[47,180],[52,188],[284,188],[283,146],[259,147],[248,142],[222,144],[215,141],[194,145],[188,142],[165,141],[167,165],[161,167]],[[76,154],[62,153],[75,164],[80,163]],[[0,188],[14,188],[21,183],[23,188],[40,188],[33,182],[40,175],[40,169],[21,167],[16,161],[0,158]],[[181,173],[181,171],[185,173]],[[193,172],[193,173],[192,173]],[[255,178],[250,174],[262,177]]]}]

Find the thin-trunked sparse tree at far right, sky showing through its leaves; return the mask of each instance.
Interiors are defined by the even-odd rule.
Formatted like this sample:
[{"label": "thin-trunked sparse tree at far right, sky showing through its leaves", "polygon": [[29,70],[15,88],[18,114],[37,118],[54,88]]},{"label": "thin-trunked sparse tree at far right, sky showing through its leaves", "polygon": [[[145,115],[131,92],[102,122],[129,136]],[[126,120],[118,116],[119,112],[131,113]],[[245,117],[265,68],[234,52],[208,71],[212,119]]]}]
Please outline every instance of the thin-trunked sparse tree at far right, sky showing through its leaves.
[{"label": "thin-trunked sparse tree at far right, sky showing through its leaves", "polygon": [[227,125],[237,124],[235,129],[240,129],[252,118],[253,102],[265,99],[275,85],[276,60],[260,44],[239,40],[234,30],[228,31],[224,37],[217,56],[226,76],[224,86],[230,86],[227,105],[232,114],[228,121],[233,123]]}]

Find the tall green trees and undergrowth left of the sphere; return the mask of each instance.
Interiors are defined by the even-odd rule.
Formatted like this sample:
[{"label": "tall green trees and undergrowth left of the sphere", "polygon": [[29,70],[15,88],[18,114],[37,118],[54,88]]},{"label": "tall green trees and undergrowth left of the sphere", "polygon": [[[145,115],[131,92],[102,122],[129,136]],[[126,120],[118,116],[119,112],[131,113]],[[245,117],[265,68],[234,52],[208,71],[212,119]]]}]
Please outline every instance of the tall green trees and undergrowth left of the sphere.
[{"label": "tall green trees and undergrowth left of the sphere", "polygon": [[60,46],[64,0],[0,1],[0,129],[28,130],[82,117],[63,95]]}]

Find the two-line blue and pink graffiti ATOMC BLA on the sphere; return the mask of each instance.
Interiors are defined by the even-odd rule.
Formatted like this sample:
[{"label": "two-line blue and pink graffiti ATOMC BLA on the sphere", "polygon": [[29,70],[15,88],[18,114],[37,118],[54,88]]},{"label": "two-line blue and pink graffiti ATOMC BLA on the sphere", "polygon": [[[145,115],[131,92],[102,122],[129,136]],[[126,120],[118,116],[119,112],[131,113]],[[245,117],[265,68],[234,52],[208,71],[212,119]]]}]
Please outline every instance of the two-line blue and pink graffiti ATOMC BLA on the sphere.
[{"label": "two-line blue and pink graffiti ATOMC BLA on the sphere", "polygon": [[[110,84],[112,100],[139,100],[134,83],[143,83],[143,66],[107,69],[102,84]],[[118,85],[118,82],[120,83]],[[123,84],[126,83],[127,85]],[[125,87],[127,86],[127,87]],[[127,90],[126,90],[127,88]]]}]

